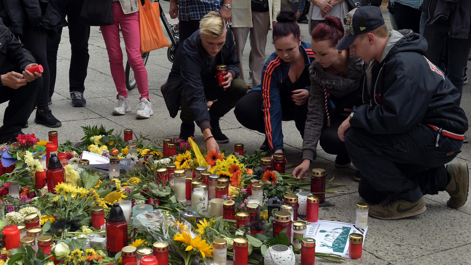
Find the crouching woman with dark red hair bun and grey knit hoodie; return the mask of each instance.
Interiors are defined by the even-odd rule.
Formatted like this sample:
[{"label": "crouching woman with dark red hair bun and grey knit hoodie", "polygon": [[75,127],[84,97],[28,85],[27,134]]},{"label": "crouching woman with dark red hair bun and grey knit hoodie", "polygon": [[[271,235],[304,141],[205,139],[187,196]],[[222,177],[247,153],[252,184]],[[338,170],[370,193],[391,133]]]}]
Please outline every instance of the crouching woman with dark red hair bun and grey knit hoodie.
[{"label": "crouching woman with dark red hair bun and grey knit hoodie", "polygon": [[311,34],[316,61],[309,67],[311,90],[302,143],[303,161],[293,172],[298,178],[316,159],[319,141],[326,153],[337,155],[335,166],[350,166],[349,155],[337,130],[353,106],[362,104],[359,84],[363,82],[365,71],[363,60],[351,55],[349,50],[335,49],[343,35],[340,18],[332,16],[326,16],[325,22],[317,25]]}]

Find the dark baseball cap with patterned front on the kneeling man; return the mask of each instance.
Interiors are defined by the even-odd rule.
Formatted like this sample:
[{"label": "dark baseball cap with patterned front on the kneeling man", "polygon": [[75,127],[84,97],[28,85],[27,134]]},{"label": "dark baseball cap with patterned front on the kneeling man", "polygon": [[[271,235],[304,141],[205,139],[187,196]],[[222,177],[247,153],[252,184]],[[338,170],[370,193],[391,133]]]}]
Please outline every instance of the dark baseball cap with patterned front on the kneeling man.
[{"label": "dark baseball cap with patterned front on the kneeling man", "polygon": [[352,9],[343,18],[345,35],[337,44],[337,50],[346,50],[362,33],[370,32],[384,24],[381,8],[365,6]]}]

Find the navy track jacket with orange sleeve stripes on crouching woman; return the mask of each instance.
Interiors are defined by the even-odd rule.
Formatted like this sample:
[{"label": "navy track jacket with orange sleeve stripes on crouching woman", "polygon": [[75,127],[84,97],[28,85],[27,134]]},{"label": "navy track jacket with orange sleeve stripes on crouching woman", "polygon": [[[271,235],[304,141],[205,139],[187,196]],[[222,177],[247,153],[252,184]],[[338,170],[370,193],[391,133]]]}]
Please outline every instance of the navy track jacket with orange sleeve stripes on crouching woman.
[{"label": "navy track jacket with orange sleeve stripes on crouching woman", "polygon": [[[304,57],[306,68],[309,68],[314,61],[314,53],[311,44],[301,42],[300,50]],[[272,151],[283,148],[283,132],[281,130],[281,103],[280,89],[283,88],[285,80],[288,80],[290,66],[287,65],[276,52],[272,53],[262,70],[262,83],[249,92],[262,92],[262,111],[265,122],[265,134],[268,139],[268,146]],[[300,88],[302,89],[302,88]],[[311,87],[304,89],[310,91]]]}]

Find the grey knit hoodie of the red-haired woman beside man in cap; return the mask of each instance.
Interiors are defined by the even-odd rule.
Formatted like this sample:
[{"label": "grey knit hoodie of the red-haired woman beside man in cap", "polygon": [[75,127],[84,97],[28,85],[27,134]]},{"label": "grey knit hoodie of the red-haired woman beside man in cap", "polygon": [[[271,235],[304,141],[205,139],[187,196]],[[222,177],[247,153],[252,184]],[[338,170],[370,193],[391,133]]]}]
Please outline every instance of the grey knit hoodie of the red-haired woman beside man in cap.
[{"label": "grey knit hoodie of the red-haired woman beside man in cap", "polygon": [[326,73],[324,68],[312,62],[309,66],[311,91],[309,92],[308,118],[304,129],[302,141],[302,158],[314,160],[317,156],[317,143],[325,121],[325,94],[326,92],[337,98],[348,96],[359,89],[359,81],[365,75],[363,60],[350,55],[347,62],[348,74],[346,77]]}]

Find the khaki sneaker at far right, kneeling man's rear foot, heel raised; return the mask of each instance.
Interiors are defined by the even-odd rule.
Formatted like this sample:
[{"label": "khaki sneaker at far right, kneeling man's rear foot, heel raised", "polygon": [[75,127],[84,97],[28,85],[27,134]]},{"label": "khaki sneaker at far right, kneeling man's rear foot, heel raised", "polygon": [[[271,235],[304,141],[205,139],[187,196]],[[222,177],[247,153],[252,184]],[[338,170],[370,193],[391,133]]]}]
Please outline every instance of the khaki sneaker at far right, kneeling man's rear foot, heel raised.
[{"label": "khaki sneaker at far right, kneeling man's rear foot, heel raised", "polygon": [[447,201],[448,207],[462,207],[468,199],[469,173],[466,163],[450,163],[446,166],[447,173],[450,175],[445,190],[450,194]]}]

